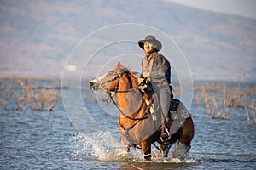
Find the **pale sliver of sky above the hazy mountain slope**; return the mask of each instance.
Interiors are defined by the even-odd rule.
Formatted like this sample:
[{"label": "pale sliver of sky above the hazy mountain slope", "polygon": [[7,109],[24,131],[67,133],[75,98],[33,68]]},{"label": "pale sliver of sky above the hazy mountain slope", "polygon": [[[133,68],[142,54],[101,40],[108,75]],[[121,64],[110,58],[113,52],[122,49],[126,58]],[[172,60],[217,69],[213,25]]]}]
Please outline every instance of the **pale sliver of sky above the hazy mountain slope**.
[{"label": "pale sliver of sky above the hazy mountain slope", "polygon": [[256,0],[167,0],[220,13],[256,19]]}]

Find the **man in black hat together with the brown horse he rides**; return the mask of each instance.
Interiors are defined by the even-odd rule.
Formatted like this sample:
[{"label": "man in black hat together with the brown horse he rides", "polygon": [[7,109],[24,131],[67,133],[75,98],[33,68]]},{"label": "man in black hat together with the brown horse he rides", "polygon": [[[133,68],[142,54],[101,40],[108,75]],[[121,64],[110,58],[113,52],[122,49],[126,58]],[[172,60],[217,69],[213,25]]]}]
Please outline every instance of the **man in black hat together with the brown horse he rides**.
[{"label": "man in black hat together with the brown horse he rides", "polygon": [[188,152],[194,138],[194,122],[183,103],[173,99],[171,65],[158,53],[162,45],[154,36],[138,41],[138,45],[145,51],[140,80],[118,63],[114,70],[90,81],[90,88],[108,92],[119,109],[121,143],[127,151],[139,145],[144,159],[149,161],[151,144],[158,142],[163,157],[167,158],[172,144],[179,141]]}]

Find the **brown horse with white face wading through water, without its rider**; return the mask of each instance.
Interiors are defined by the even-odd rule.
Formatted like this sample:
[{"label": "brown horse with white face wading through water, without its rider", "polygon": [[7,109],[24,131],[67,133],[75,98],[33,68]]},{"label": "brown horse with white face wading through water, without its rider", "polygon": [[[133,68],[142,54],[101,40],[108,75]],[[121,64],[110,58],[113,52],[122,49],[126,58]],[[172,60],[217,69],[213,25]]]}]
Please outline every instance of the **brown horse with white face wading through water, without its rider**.
[{"label": "brown horse with white face wading through water, without its rider", "polygon": [[[120,63],[113,71],[90,81],[90,88],[107,91],[111,99],[115,95],[117,103],[113,99],[112,101],[121,112],[119,131],[121,143],[127,147],[127,151],[131,146],[135,147],[138,144],[143,150],[144,159],[150,160],[151,144],[159,142],[160,150],[166,158],[172,144],[177,141],[185,144],[187,151],[189,151],[191,140],[194,138],[194,122],[190,115],[183,120],[183,124],[178,127],[171,140],[167,144],[164,143],[160,138],[161,122],[156,119],[156,117],[160,117],[157,112],[151,110],[154,101],[148,99],[148,95],[139,90],[139,84],[134,73]],[[176,99],[176,101],[178,100]],[[172,123],[174,122],[172,121]]]}]

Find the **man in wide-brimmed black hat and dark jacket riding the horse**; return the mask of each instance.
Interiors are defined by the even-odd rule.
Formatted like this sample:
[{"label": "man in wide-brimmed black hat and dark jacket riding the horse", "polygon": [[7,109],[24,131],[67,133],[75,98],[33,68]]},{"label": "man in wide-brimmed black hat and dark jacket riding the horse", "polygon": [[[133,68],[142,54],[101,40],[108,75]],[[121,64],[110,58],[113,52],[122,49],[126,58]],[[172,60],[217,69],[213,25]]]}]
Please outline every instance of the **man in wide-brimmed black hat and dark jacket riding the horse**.
[{"label": "man in wide-brimmed black hat and dark jacket riding the horse", "polygon": [[[170,100],[173,98],[171,87],[171,65],[169,61],[158,52],[162,44],[154,36],[148,35],[144,40],[138,41],[138,45],[145,51],[142,61],[143,82],[147,85],[145,91],[154,90],[155,100],[158,102],[159,112],[162,117],[162,139],[170,139],[169,126],[166,125],[166,119],[170,117]],[[156,102],[154,102],[156,103]]]}]

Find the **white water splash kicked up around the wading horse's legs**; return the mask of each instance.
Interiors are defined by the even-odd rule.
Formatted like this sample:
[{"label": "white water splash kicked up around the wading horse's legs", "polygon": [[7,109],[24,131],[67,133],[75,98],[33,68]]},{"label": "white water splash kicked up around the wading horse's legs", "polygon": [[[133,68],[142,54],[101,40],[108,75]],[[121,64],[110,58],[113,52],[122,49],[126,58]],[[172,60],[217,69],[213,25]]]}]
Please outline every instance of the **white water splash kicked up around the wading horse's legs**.
[{"label": "white water splash kicked up around the wading horse's legs", "polygon": [[[74,155],[81,161],[86,159],[96,159],[98,161],[126,161],[126,162],[145,162],[142,150],[131,148],[126,152],[125,147],[120,144],[119,136],[113,136],[113,133],[97,132],[87,135],[81,133],[73,138]],[[184,146],[176,145],[174,150],[170,150],[171,155],[184,155]],[[196,163],[194,159],[168,158],[163,160],[160,150],[152,145],[152,161],[164,163]],[[169,157],[170,157],[169,154]]]}]

